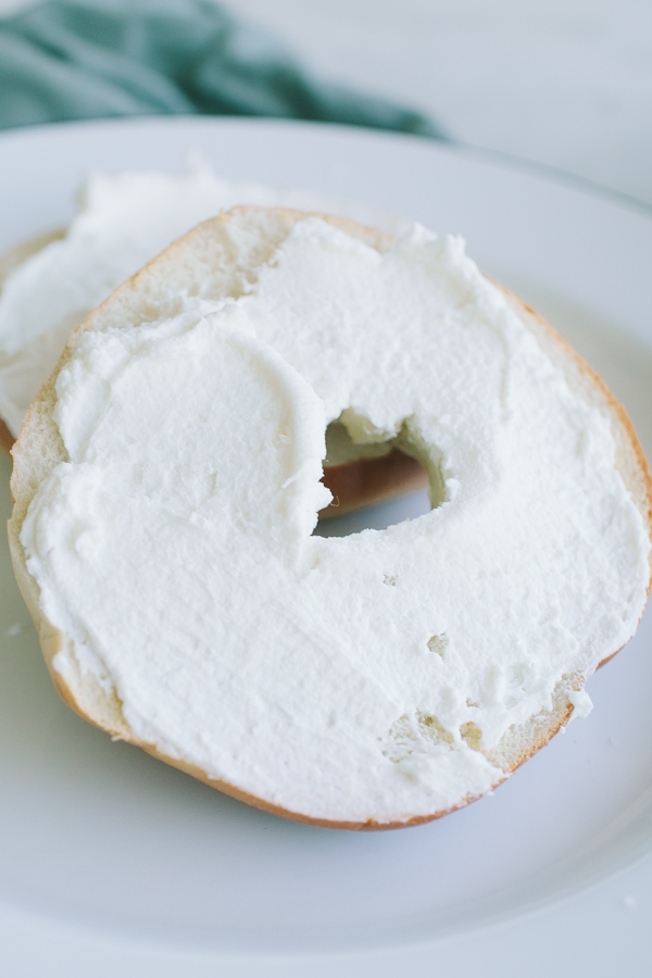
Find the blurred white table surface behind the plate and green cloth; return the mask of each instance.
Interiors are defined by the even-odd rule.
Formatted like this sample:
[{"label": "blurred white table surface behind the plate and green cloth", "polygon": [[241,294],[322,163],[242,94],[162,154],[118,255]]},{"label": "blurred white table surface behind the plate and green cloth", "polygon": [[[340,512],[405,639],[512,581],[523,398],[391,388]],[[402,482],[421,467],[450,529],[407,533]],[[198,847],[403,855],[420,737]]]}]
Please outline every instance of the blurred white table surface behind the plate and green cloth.
[{"label": "blurred white table surface behind the plate and green cloth", "polygon": [[[0,0],[0,13],[33,0]],[[230,0],[314,71],[652,204],[649,0]]]}]

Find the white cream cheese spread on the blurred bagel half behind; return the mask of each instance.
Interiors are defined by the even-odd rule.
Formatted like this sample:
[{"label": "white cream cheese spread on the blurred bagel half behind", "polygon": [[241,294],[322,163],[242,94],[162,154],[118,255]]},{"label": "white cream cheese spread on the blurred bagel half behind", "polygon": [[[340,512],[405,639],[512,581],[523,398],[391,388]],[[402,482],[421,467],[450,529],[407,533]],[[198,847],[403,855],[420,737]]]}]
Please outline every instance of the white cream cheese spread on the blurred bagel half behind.
[{"label": "white cream cheese spread on the blurred bagel half behind", "polygon": [[179,176],[92,175],[65,237],[21,264],[0,294],[0,417],[17,436],[65,342],[122,281],[200,221],[237,204],[342,213],[380,226],[399,218],[301,190],[228,183],[205,165]]}]

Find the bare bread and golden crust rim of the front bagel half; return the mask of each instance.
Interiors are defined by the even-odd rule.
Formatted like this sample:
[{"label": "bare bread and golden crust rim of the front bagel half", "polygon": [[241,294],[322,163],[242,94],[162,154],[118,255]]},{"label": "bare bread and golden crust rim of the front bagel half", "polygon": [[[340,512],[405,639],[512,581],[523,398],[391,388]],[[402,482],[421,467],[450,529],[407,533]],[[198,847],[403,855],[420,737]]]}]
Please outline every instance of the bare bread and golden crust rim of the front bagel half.
[{"label": "bare bread and golden crust rim of the front bagel half", "polygon": [[[146,322],[148,318],[153,319],[158,317],[161,314],[160,305],[155,304],[159,277],[166,283],[166,287],[171,291],[180,281],[185,283],[186,287],[189,286],[189,290],[191,290],[192,284],[201,280],[211,269],[214,271],[216,267],[215,262],[220,262],[223,259],[224,249],[228,242],[228,229],[231,224],[238,225],[239,223],[241,226],[244,226],[247,222],[255,222],[256,216],[261,213],[261,209],[258,208],[237,208],[199,225],[190,234],[166,249],[159,258],[150,262],[131,279],[123,284],[71,336],[58,369],[32,404],[21,435],[12,450],[14,457],[12,475],[14,510],[9,522],[9,537],[16,579],[39,632],[46,663],[62,699],[80,716],[111,734],[114,738],[134,743],[152,754],[152,756],[171,764],[173,767],[185,770],[192,777],[240,801],[297,822],[328,828],[356,830],[403,828],[430,822],[459,807],[463,807],[480,795],[465,798],[459,804],[444,811],[432,812],[428,815],[413,818],[408,817],[400,822],[378,823],[374,819],[368,819],[363,823],[347,823],[319,819],[272,805],[262,799],[242,792],[233,785],[211,779],[204,770],[196,765],[170,757],[159,751],[154,744],[140,741],[125,720],[122,705],[115,692],[111,697],[106,695],[92,674],[82,673],[75,659],[71,639],[52,626],[43,616],[39,606],[38,586],[26,567],[20,534],[27,509],[39,485],[48,478],[60,462],[67,460],[65,448],[52,418],[52,411],[55,405],[54,385],[59,369],[71,358],[79,336],[88,329],[103,329],[108,328],[111,323],[120,324],[125,317],[128,317],[129,322]],[[248,254],[248,258],[255,263],[260,263],[268,258],[277,247],[277,243],[289,233],[291,226],[305,216],[301,212],[284,209],[273,209],[264,213],[266,214],[266,220],[275,223],[277,240],[271,248],[266,248],[262,252],[260,249],[255,250],[255,244],[252,246],[251,254]],[[323,214],[315,216],[319,216],[346,230],[380,252],[391,247],[393,241],[392,236],[364,228],[352,221]],[[239,255],[237,254],[233,256],[234,268],[237,267],[238,258]],[[507,297],[514,311],[518,313],[523,323],[531,330],[549,356],[563,368],[568,383],[576,390],[581,391],[587,401],[599,405],[602,411],[609,413],[617,446],[616,461],[618,471],[647,523],[650,537],[652,537],[652,477],[625,410],[594,371],[572,350],[569,344],[552,326],[507,289],[502,287],[501,289]],[[210,298],[213,298],[213,296],[211,294]],[[652,566],[648,581],[648,594],[651,586]],[[54,656],[62,650],[65,650],[66,657],[71,663],[71,669],[66,677],[63,677],[53,666]],[[600,665],[615,655],[618,649],[613,649],[606,653]],[[566,724],[573,712],[568,694],[574,690],[581,689],[586,678],[587,676],[577,674],[561,677],[555,687],[550,711],[542,711],[540,714],[530,717],[523,725],[514,725],[505,732],[496,748],[484,752],[492,764],[502,768],[504,778],[509,777],[521,764],[548,743],[560,727]],[[481,750],[481,743],[474,742],[473,734],[468,736],[467,743],[476,750]],[[504,778],[499,779],[497,783],[502,783]]]}]

